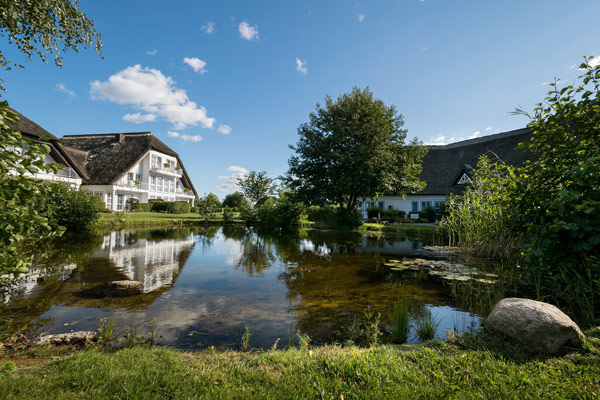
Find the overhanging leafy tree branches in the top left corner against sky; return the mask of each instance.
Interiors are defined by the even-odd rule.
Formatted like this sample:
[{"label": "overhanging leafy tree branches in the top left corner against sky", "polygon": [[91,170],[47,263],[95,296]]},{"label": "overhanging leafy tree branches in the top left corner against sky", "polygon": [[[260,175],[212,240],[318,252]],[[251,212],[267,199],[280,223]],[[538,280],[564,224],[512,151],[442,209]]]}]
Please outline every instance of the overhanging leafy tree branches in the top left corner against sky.
[{"label": "overhanging leafy tree branches in the top left corner against sky", "polygon": [[[102,57],[102,38],[77,0],[0,0],[0,10],[0,36],[28,61],[34,54],[44,62],[48,55],[54,55],[54,63],[60,67],[61,51],[78,52],[80,46],[93,47]],[[0,67],[10,71],[12,66],[23,68],[0,51]],[[3,84],[0,79],[0,89],[4,90]]]}]

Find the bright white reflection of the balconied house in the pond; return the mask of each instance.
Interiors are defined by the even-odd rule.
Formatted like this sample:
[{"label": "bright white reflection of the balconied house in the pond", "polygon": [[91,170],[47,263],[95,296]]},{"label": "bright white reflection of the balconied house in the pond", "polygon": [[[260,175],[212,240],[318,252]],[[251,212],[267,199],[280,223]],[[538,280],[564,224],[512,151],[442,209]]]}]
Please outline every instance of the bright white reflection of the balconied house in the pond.
[{"label": "bright white reflection of the balconied house in the pond", "polygon": [[138,239],[132,232],[111,232],[96,256],[108,257],[129,280],[143,282],[144,293],[173,283],[181,253],[191,250],[194,236],[183,239]]}]

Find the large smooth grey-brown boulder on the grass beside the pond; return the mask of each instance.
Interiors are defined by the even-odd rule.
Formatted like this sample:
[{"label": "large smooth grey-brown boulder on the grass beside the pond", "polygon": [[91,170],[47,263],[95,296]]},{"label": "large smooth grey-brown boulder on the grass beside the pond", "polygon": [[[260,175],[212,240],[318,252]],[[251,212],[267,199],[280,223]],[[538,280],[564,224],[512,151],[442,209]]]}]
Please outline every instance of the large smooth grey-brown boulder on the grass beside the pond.
[{"label": "large smooth grey-brown boulder on the grass beside the pond", "polygon": [[500,331],[538,353],[552,354],[565,344],[580,345],[579,326],[552,304],[507,298],[496,304],[485,320],[486,328]]}]

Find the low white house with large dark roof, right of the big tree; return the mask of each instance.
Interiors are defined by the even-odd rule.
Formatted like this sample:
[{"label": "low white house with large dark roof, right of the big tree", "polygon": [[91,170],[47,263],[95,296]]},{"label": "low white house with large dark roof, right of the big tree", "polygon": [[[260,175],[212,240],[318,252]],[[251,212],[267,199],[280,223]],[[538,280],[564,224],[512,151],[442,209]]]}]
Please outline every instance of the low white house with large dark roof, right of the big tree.
[{"label": "low white house with large dark roof, right of the big tree", "polygon": [[518,150],[517,145],[530,137],[531,130],[523,128],[445,146],[428,146],[429,151],[423,157],[423,168],[419,175],[419,179],[426,184],[425,188],[404,197],[386,195],[365,200],[360,204],[363,217],[367,218],[367,209],[370,207],[401,210],[407,215],[411,211],[433,207],[439,213],[450,194],[459,194],[465,184],[471,181],[473,169],[481,155],[487,155],[490,160],[502,160],[509,165],[521,165],[527,159],[527,154]]}]

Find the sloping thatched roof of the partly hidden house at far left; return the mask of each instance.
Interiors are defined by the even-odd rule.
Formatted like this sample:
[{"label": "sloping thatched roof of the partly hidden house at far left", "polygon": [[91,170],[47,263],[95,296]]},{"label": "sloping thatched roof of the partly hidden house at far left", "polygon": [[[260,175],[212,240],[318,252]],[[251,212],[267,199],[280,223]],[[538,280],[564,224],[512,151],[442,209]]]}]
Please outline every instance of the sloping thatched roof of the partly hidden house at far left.
[{"label": "sloping thatched roof of the partly hidden house at far left", "polygon": [[46,139],[42,142],[50,146],[50,156],[57,163],[62,164],[65,167],[73,168],[81,178],[86,178],[85,169],[79,168],[78,165],[74,163],[73,160],[71,160],[69,154],[70,149],[64,146],[56,136],[54,136],[53,134],[51,134],[50,132],[48,132],[40,125],[36,124],[35,122],[21,114],[14,108],[9,107],[9,109],[15,114],[17,114],[17,116],[19,117],[19,120],[16,123],[8,122],[9,127],[21,132],[24,136],[34,141],[40,141],[40,139],[45,137]]}]

